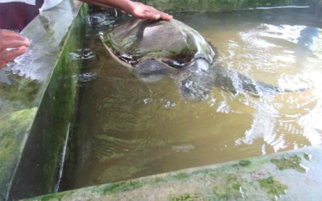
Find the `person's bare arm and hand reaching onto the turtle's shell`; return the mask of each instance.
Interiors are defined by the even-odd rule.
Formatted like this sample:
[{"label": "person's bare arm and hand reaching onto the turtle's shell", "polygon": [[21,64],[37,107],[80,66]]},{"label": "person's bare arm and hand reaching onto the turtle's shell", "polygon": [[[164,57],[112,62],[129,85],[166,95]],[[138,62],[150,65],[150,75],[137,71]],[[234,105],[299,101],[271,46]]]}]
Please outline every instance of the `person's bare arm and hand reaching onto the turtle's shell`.
[{"label": "person's bare arm and hand reaching onto the turtle's shell", "polygon": [[153,7],[146,6],[142,3],[132,2],[130,0],[81,0],[103,8],[117,8],[125,13],[132,15],[138,19],[151,20],[171,20],[172,16],[164,12],[160,12]]}]

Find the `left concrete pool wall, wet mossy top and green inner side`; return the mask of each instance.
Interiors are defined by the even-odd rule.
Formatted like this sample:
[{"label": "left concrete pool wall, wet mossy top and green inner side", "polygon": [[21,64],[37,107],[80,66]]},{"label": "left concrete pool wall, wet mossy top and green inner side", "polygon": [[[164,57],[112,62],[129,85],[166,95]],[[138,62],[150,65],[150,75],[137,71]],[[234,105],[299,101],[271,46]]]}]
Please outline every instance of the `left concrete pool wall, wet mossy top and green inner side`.
[{"label": "left concrete pool wall, wet mossy top and green inner side", "polygon": [[82,47],[87,14],[80,8],[64,0],[36,17],[22,32],[28,52],[0,72],[0,200],[57,190],[76,100],[78,61],[69,53]]}]

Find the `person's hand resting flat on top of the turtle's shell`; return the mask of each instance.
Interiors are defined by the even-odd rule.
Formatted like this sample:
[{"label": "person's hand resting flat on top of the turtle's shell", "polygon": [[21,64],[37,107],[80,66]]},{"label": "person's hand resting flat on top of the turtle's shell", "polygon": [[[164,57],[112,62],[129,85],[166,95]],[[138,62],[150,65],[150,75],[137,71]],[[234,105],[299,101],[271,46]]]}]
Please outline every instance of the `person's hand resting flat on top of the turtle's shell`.
[{"label": "person's hand resting flat on top of the turtle's shell", "polygon": [[153,7],[146,6],[142,3],[132,2],[129,14],[138,19],[150,19],[150,20],[171,20],[172,16],[164,12],[158,11]]}]

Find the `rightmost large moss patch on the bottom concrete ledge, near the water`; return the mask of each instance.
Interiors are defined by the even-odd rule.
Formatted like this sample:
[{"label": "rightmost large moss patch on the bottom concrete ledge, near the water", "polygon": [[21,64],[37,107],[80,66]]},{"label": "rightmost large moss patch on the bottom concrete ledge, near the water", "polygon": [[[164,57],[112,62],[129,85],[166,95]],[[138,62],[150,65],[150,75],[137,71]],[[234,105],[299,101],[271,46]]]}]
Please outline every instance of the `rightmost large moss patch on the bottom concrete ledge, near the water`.
[{"label": "rightmost large moss patch on the bottom concrete ledge, near the water", "polygon": [[283,157],[281,159],[271,159],[271,162],[277,166],[279,170],[295,169],[299,172],[306,172],[306,169],[301,165],[301,157],[294,155]]}]

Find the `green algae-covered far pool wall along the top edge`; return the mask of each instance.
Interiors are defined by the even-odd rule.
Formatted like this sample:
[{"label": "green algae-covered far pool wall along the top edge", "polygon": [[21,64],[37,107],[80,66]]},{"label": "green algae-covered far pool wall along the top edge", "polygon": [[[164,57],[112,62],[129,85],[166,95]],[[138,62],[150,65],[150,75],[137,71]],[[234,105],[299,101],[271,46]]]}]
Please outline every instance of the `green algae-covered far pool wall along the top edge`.
[{"label": "green algae-covered far pool wall along the top edge", "polygon": [[167,12],[232,11],[256,7],[312,6],[318,0],[141,0],[140,2]]}]

